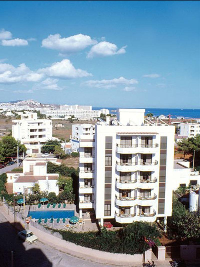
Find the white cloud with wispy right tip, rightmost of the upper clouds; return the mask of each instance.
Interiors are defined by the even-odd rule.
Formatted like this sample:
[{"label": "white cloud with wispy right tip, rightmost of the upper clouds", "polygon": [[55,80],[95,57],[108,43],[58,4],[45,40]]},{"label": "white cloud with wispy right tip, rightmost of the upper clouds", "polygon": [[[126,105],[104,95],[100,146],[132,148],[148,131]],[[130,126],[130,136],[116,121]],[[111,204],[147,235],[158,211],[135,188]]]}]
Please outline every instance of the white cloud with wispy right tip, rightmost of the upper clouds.
[{"label": "white cloud with wispy right tip, rightmost of the upper clouds", "polygon": [[95,56],[113,56],[117,54],[126,53],[126,46],[123,46],[119,50],[117,50],[117,45],[111,44],[109,42],[103,41],[96,45],[94,45],[89,53],[87,54],[87,58],[93,58]]}]

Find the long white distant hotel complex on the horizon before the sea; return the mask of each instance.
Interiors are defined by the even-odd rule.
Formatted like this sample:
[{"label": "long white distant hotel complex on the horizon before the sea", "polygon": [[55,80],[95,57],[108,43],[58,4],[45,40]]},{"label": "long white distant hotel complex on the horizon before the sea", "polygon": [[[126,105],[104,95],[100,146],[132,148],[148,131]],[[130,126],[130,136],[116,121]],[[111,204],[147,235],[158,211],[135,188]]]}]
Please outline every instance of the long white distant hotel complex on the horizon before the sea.
[{"label": "long white distant hotel complex on the horizon before the sea", "polygon": [[110,113],[109,109],[92,110],[92,106],[79,106],[79,105],[61,105],[60,109],[46,109],[41,111],[47,117],[59,118],[74,116],[80,120],[97,119],[101,113],[107,115]]}]

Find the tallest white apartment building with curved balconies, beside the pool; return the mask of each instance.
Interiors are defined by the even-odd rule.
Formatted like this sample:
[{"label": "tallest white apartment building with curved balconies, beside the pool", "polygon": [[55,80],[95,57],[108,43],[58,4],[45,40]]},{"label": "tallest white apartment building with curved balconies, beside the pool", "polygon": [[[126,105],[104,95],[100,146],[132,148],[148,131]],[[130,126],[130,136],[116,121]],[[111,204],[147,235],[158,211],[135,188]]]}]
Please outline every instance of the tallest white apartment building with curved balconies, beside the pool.
[{"label": "tallest white apartment building with curved balconies, beside the pool", "polygon": [[145,119],[145,109],[118,109],[80,136],[79,216],[99,223],[154,222],[171,216],[175,127]]}]

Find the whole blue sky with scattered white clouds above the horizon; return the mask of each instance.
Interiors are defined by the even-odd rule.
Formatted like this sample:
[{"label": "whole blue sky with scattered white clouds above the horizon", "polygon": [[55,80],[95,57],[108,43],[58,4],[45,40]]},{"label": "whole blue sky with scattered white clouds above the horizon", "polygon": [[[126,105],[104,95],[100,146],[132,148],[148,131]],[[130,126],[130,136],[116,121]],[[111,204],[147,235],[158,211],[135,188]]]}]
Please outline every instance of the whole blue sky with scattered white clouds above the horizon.
[{"label": "whole blue sky with scattered white clouds above the horizon", "polygon": [[199,1],[1,1],[0,102],[199,108]]}]

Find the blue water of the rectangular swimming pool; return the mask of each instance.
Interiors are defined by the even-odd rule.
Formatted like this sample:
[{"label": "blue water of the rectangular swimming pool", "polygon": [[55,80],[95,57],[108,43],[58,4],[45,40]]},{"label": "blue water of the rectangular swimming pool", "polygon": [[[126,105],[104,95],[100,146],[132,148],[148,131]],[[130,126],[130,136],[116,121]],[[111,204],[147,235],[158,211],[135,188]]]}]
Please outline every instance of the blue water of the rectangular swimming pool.
[{"label": "blue water of the rectangular swimming pool", "polygon": [[54,218],[71,218],[74,216],[74,210],[30,210],[27,217],[31,216],[35,219],[51,219]]}]

